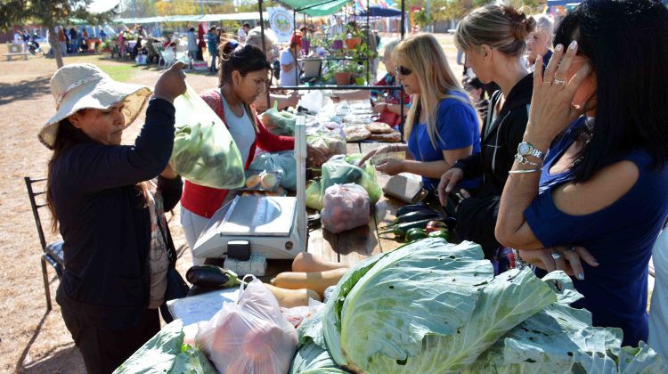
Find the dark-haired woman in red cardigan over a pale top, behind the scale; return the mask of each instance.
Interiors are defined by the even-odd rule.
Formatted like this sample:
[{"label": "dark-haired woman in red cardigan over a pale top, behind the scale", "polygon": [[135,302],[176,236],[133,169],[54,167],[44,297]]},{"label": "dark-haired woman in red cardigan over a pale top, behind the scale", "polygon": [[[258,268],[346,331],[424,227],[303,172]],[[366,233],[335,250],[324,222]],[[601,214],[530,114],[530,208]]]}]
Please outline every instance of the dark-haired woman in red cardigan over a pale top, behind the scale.
[{"label": "dark-haired woman in red cardigan over a pale top, behind the scale", "polygon": [[[202,93],[201,97],[223,119],[240,150],[245,167],[248,168],[253,161],[258,147],[270,152],[293,150],[294,138],[269,133],[253,107],[253,102],[265,93],[269,84],[270,66],[265,53],[252,45],[240,45],[235,40],[221,44],[219,53],[219,88]],[[322,158],[317,150],[308,147],[308,151],[310,158]],[[228,190],[185,181],[181,197],[181,225],[191,250],[208,219],[223,206],[224,201],[232,198],[228,194]],[[201,264],[203,261],[193,257],[193,263]]]}]

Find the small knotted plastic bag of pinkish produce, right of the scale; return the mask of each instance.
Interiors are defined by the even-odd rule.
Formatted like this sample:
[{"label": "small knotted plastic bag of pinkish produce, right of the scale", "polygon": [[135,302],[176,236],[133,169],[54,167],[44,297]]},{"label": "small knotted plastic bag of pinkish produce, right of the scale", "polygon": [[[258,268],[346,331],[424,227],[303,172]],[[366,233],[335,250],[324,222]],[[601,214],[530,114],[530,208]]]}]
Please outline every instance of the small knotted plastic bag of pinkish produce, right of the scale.
[{"label": "small knotted plastic bag of pinkish produce, right of the scale", "polygon": [[334,184],[328,187],[323,206],[320,220],[328,232],[345,232],[371,221],[371,199],[359,184]]}]

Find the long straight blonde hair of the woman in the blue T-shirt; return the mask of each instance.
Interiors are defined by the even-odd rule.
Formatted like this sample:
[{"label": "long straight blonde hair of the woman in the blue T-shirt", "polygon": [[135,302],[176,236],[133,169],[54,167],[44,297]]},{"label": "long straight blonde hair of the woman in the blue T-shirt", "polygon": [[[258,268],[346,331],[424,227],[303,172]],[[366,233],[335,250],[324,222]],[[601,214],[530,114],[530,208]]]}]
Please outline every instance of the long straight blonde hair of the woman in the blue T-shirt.
[{"label": "long straight blonde hair of the woman in the blue T-shirt", "polygon": [[[410,69],[420,82],[420,93],[411,96],[411,110],[408,111],[403,126],[404,140],[407,141],[411,136],[413,124],[419,119],[416,118],[418,110],[424,110],[427,115],[429,140],[436,148],[436,138],[443,142],[436,126],[438,102],[445,98],[453,98],[473,108],[468,101],[468,95],[464,93],[460,83],[452,74],[443,48],[431,34],[418,34],[404,39],[395,47],[392,61],[396,66]],[[459,91],[462,95],[452,94],[453,91]]]}]

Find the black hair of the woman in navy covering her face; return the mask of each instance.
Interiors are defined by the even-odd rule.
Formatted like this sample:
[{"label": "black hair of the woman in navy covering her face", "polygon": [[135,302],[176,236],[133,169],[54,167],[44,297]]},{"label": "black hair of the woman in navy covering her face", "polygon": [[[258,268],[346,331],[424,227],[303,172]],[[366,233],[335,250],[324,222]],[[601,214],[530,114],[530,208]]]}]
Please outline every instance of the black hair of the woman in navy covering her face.
[{"label": "black hair of the woman in navy covering her face", "polygon": [[[591,179],[615,155],[643,148],[668,161],[668,10],[653,0],[587,0],[558,26],[554,44],[577,40],[596,75],[594,126],[576,156],[574,182]],[[590,134],[587,134],[587,133]]]}]

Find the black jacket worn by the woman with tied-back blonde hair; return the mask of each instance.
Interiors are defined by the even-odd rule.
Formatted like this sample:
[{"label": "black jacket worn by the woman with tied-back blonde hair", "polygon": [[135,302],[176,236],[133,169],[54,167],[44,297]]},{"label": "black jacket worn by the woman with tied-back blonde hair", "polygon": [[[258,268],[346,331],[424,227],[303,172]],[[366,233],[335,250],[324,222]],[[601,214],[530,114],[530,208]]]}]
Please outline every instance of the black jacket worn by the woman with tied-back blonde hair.
[{"label": "black jacket worn by the woman with tied-back blonde hair", "polygon": [[454,165],[464,171],[465,179],[483,177],[475,196],[464,199],[457,210],[457,233],[462,240],[480,244],[486,258],[491,258],[493,251],[501,247],[494,237],[494,226],[499,215],[501,192],[515,161],[517,144],[522,142],[525,134],[533,89],[534,75],[529,74],[510,90],[499,115],[492,122],[493,108],[501,98],[501,90],[493,93],[481,134],[480,153],[460,159]]}]

